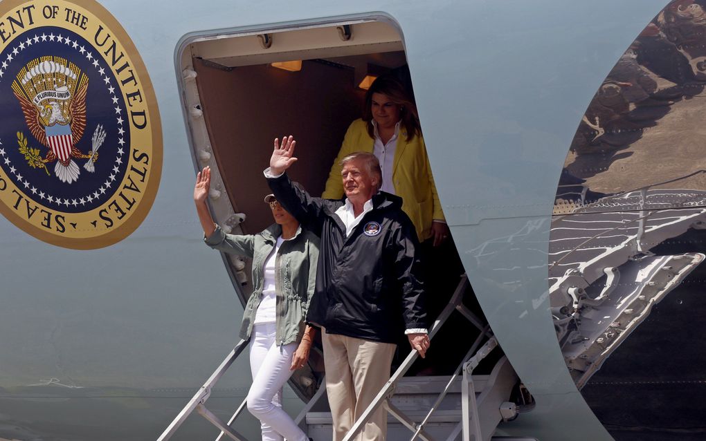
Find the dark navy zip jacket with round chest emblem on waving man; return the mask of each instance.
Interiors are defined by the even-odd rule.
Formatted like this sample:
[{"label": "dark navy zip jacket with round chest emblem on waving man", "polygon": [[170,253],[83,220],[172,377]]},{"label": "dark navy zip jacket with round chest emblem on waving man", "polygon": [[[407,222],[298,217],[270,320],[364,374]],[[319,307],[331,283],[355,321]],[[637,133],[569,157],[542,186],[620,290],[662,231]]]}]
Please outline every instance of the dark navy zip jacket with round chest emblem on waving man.
[{"label": "dark navy zip jacket with round chest emblem on waving man", "polygon": [[419,242],[401,198],[374,195],[373,210],[346,237],[335,214],[344,200],[312,198],[287,174],[268,182],[282,206],[321,237],[309,322],[330,334],[387,343],[405,329],[427,327]]}]

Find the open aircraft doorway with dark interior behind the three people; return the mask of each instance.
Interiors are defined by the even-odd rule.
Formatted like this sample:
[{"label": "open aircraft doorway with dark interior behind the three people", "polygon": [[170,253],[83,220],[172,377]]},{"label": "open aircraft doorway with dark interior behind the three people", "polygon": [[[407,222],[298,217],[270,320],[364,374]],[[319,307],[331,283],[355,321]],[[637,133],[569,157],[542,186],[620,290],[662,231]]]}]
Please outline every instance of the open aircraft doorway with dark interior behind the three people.
[{"label": "open aircraft doorway with dark interior behind the three people", "polygon": [[[349,124],[362,115],[366,89],[372,80],[379,75],[394,75],[414,96],[402,34],[393,20],[383,16],[310,23],[297,28],[192,35],[179,47],[177,71],[181,75],[182,104],[195,168],[211,168],[210,210],[222,229],[232,234],[255,234],[272,222],[270,210],[263,204],[263,196],[270,193],[263,169],[272,153],[274,138],[295,136],[300,160],[287,173],[311,195],[318,196],[325,188]],[[423,121],[421,126],[424,128]],[[532,399],[525,389],[520,389],[507,358],[499,347],[492,350],[496,344],[463,274],[453,241],[435,247],[434,258],[431,242],[429,248],[425,272],[431,279],[433,294],[429,295],[428,315],[433,320],[448,310],[448,320],[443,319],[447,325],[440,328],[426,363],[409,363],[405,368],[405,372],[409,369],[405,380],[414,383],[406,389],[418,392],[418,385],[428,384],[423,394],[438,393],[451,375],[455,386],[441,405],[449,412],[437,417],[441,423],[434,430],[445,433],[447,428],[460,427],[460,415],[455,415],[460,404],[454,403],[460,397],[460,387],[456,385],[461,382],[460,366],[476,354],[481,344],[489,343],[492,347],[481,358],[490,355],[477,366],[476,374],[490,375],[486,387],[500,385],[502,390],[495,399],[509,401],[512,393],[518,404],[530,409]],[[252,291],[251,262],[222,256],[245,304]],[[448,308],[452,297],[456,308]],[[461,345],[459,335],[463,336]],[[406,340],[400,341],[393,370],[404,365],[408,351]],[[409,374],[422,379],[415,380]],[[323,354],[313,351],[308,366],[295,371],[289,385],[302,400],[318,400],[318,404],[305,408],[309,411],[309,435],[311,430],[321,430],[328,437],[330,426],[321,423],[326,417],[311,416],[312,412],[323,415],[327,410],[325,399],[320,399],[323,375]],[[439,375],[445,375],[445,380]],[[404,391],[405,386],[400,390]],[[407,392],[402,399],[419,401],[417,392]],[[410,398],[409,393],[416,394],[416,398]],[[428,400],[421,399],[416,411],[426,413]],[[501,421],[497,409],[496,416],[481,423],[484,433],[492,433],[494,425]],[[424,416],[421,413],[420,419]],[[391,433],[407,431],[403,425],[394,427],[391,426]]]}]

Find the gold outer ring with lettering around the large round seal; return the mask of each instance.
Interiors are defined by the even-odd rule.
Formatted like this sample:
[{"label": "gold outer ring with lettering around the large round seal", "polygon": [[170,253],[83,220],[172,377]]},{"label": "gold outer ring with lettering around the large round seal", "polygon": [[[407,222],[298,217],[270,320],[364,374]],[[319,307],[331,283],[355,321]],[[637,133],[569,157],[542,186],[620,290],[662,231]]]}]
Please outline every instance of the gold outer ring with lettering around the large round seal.
[{"label": "gold outer ring with lettering around the large round seal", "polygon": [[[37,226],[30,224],[30,222],[23,219],[17,215],[11,207],[0,203],[0,213],[6,217],[10,222],[17,226],[25,233],[30,234],[30,236],[40,239],[46,243],[51,243],[55,246],[60,246],[62,248],[70,248],[74,250],[94,250],[97,248],[105,248],[107,246],[114,245],[124,238],[130,236],[137,228],[142,224],[147,217],[148,213],[152,209],[152,205],[157,197],[157,190],[160,186],[160,181],[162,180],[162,159],[163,159],[163,145],[162,145],[162,120],[160,118],[159,107],[157,106],[157,97],[155,95],[154,87],[152,87],[152,81],[148,74],[147,68],[138,52],[132,39],[129,37],[128,33],[122,27],[120,22],[110,13],[104,6],[98,3],[96,0],[64,0],[66,3],[75,4],[79,8],[85,8],[90,11],[94,16],[96,16],[101,22],[107,26],[109,30],[113,32],[114,37],[118,40],[124,47],[126,54],[130,58],[135,69],[138,78],[140,78],[141,89],[145,95],[145,102],[148,109],[148,118],[150,119],[150,129],[152,134],[152,155],[150,156],[150,168],[148,173],[150,173],[149,181],[138,202],[138,207],[135,212],[133,212],[125,222],[116,225],[113,230],[107,231],[105,234],[99,236],[92,236],[90,238],[68,238],[61,237],[56,234],[44,231]],[[18,6],[31,3],[28,0],[4,0],[0,2],[2,6],[2,15],[12,11]],[[58,26],[57,26],[58,27]],[[67,28],[68,29],[68,28]],[[70,30],[70,29],[69,29]],[[132,145],[131,145],[132,147]]]}]

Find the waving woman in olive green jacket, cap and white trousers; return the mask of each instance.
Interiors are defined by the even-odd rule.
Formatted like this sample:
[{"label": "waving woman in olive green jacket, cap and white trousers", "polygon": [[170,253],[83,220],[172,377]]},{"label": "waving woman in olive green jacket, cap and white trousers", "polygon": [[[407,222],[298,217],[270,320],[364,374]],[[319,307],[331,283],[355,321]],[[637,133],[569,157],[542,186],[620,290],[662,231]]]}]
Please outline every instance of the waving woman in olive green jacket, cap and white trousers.
[{"label": "waving woman in olive green jacket, cap and white trousers", "polygon": [[209,167],[199,172],[193,191],[205,243],[253,259],[253,293],[240,331],[241,338],[251,340],[248,409],[261,421],[263,440],[308,441],[282,410],[282,387],[292,370],[306,363],[316,332],[305,327],[304,318],[316,284],[318,237],[301,229],[273,195],[265,196],[265,202],[275,224],[258,234],[225,234],[206,207],[210,175]]}]

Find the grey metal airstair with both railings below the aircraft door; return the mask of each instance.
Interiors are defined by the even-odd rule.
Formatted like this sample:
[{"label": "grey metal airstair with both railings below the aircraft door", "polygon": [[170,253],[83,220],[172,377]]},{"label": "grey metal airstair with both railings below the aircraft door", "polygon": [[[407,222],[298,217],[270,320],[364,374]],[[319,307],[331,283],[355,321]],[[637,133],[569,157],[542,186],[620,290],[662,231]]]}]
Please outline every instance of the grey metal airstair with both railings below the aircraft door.
[{"label": "grey metal airstair with both railings below the aircraft door", "polygon": [[[405,373],[418,356],[417,351],[410,351],[371,406],[347,433],[345,441],[353,440],[371,414],[380,407],[388,413],[388,440],[534,440],[534,438],[493,437],[499,423],[512,421],[521,411],[532,408],[532,397],[520,387],[517,375],[505,356],[499,357],[490,373],[484,375],[474,373],[481,361],[484,361],[493,351],[498,351],[496,349],[498,342],[489,327],[462,303],[462,297],[467,288],[468,281],[464,275],[429,332],[429,337],[433,339],[454,312],[460,313],[479,330],[478,337],[470,342],[462,363],[457,366],[453,375],[405,377]],[[169,440],[193,411],[200,413],[221,430],[216,438],[217,441],[246,441],[246,437],[234,428],[237,425],[238,416],[246,408],[246,401],[241,402],[227,423],[205,406],[215,383],[242,353],[246,345],[247,342],[241,340],[234,347],[205,384],[193,395],[177,418],[174,418],[164,433],[157,438],[157,441]],[[519,397],[515,400],[518,402],[510,401],[513,390],[520,391],[515,394]],[[314,440],[331,440],[333,429],[323,382],[295,421]]]}]

